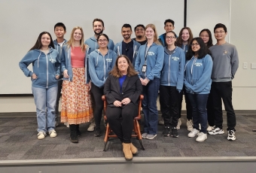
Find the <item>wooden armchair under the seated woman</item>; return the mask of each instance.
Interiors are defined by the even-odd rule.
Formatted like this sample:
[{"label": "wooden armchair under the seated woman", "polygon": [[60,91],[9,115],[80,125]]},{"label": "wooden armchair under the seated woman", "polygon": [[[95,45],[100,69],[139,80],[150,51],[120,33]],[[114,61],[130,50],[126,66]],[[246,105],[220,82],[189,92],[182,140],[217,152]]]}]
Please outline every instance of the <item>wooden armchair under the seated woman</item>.
[{"label": "wooden armchair under the seated woman", "polygon": [[[145,150],[145,148],[144,148],[144,146],[142,144],[142,134],[141,134],[140,126],[139,126],[139,122],[138,122],[138,120],[141,120],[141,118],[142,118],[141,117],[142,99],[144,99],[144,96],[140,95],[139,96],[139,111],[138,111],[138,115],[133,120],[133,132],[134,133],[132,134],[132,137],[136,137],[139,140],[139,144],[141,145],[142,150]],[[105,120],[105,122],[108,122],[107,121],[107,116],[106,116],[106,111],[107,111],[108,103],[107,103],[107,101],[105,99],[105,96],[102,96],[102,100],[104,102],[104,120]],[[108,143],[108,139],[109,138],[117,138],[117,135],[114,134],[114,132],[110,129],[110,126],[107,123],[106,129],[105,129],[105,138],[104,138],[105,145],[104,145],[104,150],[103,151],[107,150],[107,143]]]}]

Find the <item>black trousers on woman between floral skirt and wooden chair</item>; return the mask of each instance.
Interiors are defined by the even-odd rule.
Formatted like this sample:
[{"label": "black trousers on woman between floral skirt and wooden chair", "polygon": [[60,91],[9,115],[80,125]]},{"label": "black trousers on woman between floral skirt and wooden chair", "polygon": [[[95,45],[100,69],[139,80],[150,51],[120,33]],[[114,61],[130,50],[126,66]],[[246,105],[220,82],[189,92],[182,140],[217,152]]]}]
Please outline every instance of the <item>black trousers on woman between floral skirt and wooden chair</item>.
[{"label": "black trousers on woman between floral skirt and wooden chair", "polygon": [[102,120],[103,101],[102,96],[104,95],[104,87],[98,87],[92,83],[91,94],[93,96],[95,107],[93,110],[93,117],[95,119],[96,128],[99,128],[100,121]]}]

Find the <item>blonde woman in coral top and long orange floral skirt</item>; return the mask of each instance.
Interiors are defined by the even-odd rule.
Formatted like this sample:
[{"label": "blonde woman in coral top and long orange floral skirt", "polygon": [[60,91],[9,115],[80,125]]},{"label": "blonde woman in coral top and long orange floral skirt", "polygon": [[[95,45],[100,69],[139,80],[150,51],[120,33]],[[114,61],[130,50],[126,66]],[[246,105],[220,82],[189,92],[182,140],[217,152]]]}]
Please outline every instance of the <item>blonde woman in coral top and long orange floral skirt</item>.
[{"label": "blonde woman in coral top and long orange floral skirt", "polygon": [[61,70],[62,111],[61,122],[69,123],[70,140],[78,142],[79,124],[93,117],[90,101],[88,55],[90,48],[84,44],[84,32],[79,26],[72,30],[69,41],[62,47]]}]

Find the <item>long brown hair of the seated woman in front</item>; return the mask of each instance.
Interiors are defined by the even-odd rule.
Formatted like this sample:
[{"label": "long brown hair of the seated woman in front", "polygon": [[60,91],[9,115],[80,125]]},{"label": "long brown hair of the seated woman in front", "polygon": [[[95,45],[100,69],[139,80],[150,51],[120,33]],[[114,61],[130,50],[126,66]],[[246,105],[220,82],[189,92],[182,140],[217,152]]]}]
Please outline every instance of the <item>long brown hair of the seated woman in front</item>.
[{"label": "long brown hair of the seated woman in front", "polygon": [[135,76],[135,75],[138,75],[138,72],[135,71],[135,69],[133,68],[133,64],[132,62],[130,61],[130,59],[125,56],[125,55],[120,55],[120,56],[117,56],[117,60],[115,61],[114,63],[114,68],[113,70],[111,70],[109,72],[109,74],[112,74],[114,77],[122,77],[123,74],[121,74],[121,72],[119,71],[118,69],[118,59],[120,58],[125,58],[126,61],[128,62],[128,69],[127,69],[127,76],[131,77],[131,76]]}]

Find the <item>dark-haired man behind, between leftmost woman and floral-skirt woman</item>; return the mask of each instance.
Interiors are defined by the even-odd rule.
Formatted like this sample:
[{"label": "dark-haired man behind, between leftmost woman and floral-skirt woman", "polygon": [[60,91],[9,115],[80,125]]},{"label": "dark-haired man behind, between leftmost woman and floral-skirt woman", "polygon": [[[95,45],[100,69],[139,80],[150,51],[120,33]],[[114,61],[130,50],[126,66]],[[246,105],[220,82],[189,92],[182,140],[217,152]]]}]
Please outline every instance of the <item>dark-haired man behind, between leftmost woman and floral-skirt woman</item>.
[{"label": "dark-haired man behind, between leftmost woman and floral-skirt woman", "polygon": [[[66,34],[66,26],[63,23],[56,23],[54,26],[54,34],[56,35],[56,40],[53,41],[55,49],[59,53],[59,59],[61,57],[62,53],[62,45],[66,43],[66,39],[64,39],[64,35]],[[60,60],[59,60],[60,61]],[[61,78],[61,77],[59,77]],[[62,80],[58,81],[58,93],[57,93],[57,99],[56,99],[56,105],[55,105],[55,126],[58,126],[58,116],[59,116],[59,99],[61,96],[61,89],[62,89]]]}]

